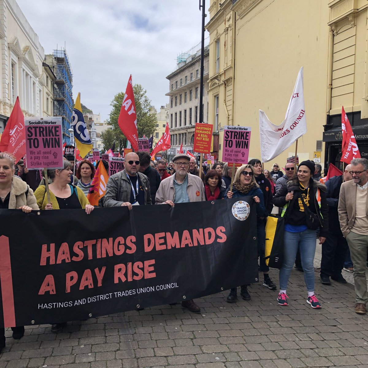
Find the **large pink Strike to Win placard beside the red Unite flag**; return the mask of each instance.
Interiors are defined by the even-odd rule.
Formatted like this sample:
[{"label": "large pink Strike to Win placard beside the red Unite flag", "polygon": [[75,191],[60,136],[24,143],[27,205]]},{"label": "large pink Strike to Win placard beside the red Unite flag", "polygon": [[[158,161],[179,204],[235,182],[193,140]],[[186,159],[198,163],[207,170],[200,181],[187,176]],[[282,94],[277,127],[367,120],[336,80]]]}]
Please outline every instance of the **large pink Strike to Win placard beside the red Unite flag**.
[{"label": "large pink Strike to Win placard beside the red Unite flag", "polygon": [[28,169],[61,169],[63,129],[61,117],[24,118]]}]

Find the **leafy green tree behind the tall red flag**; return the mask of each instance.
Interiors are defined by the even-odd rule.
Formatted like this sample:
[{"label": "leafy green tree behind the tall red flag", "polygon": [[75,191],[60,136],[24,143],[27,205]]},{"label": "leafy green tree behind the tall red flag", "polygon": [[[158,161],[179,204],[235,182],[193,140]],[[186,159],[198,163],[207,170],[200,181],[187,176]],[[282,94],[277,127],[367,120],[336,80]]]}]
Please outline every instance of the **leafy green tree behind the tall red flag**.
[{"label": "leafy green tree behind the tall red flag", "polygon": [[[143,137],[143,135],[150,137],[156,130],[157,117],[156,114],[150,113],[151,100],[147,97],[146,92],[147,91],[140,84],[135,84],[133,86],[135,112],[137,114],[138,137]],[[112,110],[110,112],[109,119],[107,120],[107,124],[111,125],[111,130],[116,142],[116,148],[119,148],[119,151],[126,147],[127,144],[127,138],[120,130],[118,124],[118,117],[120,114],[121,105],[123,104],[124,95],[124,92],[119,92],[114,96],[114,99],[110,103]],[[104,132],[106,132],[106,130]],[[108,135],[102,135],[102,142],[104,146],[108,146],[110,144],[109,139],[110,132]]]}]

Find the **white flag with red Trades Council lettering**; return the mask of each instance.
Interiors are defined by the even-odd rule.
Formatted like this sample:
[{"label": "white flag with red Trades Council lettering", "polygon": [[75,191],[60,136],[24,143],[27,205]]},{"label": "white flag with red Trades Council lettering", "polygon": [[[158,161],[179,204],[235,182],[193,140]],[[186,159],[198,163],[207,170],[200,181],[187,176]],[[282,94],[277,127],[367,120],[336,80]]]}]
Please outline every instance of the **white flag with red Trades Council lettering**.
[{"label": "white flag with red Trades Council lettering", "polygon": [[303,67],[301,67],[286,110],[285,120],[280,125],[272,124],[266,114],[259,110],[262,162],[268,162],[280,155],[306,132]]}]

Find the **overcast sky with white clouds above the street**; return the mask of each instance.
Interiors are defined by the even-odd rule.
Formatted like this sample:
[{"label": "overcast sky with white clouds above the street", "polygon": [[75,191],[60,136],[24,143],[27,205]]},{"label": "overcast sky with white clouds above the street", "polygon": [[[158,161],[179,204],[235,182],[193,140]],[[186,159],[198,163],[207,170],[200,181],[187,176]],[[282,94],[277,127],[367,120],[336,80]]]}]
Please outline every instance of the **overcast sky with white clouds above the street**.
[{"label": "overcast sky with white clouds above the street", "polygon": [[102,120],[130,74],[159,111],[169,102],[165,77],[175,70],[177,55],[201,42],[199,0],[17,2],[45,54],[66,43],[73,97],[81,92],[81,102]]}]

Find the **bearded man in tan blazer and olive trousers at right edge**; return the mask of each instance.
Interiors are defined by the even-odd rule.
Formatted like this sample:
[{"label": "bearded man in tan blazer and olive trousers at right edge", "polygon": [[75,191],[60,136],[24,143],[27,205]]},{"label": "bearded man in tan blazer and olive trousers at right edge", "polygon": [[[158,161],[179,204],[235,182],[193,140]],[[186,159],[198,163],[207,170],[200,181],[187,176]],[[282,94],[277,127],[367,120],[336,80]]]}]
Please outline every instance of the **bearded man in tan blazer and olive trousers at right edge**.
[{"label": "bearded man in tan blazer and olive trousers at right edge", "polygon": [[339,221],[354,265],[355,312],[365,314],[368,302],[365,277],[368,250],[368,160],[352,160],[350,174],[353,180],[343,183],[340,188]]}]

